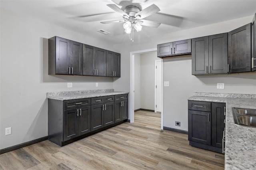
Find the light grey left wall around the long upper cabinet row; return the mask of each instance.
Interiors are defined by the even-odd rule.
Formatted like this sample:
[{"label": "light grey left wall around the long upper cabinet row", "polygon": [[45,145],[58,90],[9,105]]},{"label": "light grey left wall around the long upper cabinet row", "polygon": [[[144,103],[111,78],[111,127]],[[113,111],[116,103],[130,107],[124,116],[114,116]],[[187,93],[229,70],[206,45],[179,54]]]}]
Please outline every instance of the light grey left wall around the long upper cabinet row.
[{"label": "light grey left wall around the long upper cabinet row", "polygon": [[[108,50],[112,44],[4,9],[0,14],[0,149],[48,136],[47,92],[113,89],[111,77],[48,75],[47,39],[60,36]],[[7,127],[12,134],[5,136]]]}]

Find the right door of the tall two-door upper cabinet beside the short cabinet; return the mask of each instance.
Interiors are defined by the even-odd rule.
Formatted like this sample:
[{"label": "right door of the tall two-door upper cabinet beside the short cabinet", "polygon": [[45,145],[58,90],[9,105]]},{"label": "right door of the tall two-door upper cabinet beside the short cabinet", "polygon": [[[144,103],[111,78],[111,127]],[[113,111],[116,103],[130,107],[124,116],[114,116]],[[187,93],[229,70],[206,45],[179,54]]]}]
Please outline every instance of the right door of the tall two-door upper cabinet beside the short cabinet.
[{"label": "right door of the tall two-door upper cabinet beside the short cabinet", "polygon": [[209,36],[209,73],[228,73],[228,33]]}]

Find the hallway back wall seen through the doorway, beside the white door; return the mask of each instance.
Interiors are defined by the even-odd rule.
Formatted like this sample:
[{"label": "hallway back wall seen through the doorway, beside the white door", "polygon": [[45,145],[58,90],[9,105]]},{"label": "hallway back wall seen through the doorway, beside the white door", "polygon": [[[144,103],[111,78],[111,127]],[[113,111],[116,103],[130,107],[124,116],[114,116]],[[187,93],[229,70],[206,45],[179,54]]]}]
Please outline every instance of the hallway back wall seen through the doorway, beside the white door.
[{"label": "hallway back wall seen through the doorway, beside the white door", "polygon": [[140,105],[142,109],[155,109],[155,60],[157,52],[140,55]]}]

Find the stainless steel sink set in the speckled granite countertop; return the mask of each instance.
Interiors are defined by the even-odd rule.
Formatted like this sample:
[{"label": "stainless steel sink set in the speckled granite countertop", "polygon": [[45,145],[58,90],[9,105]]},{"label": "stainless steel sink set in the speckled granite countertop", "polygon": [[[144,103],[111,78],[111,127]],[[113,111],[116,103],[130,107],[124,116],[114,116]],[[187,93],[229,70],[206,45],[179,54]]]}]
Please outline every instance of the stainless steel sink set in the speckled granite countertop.
[{"label": "stainless steel sink set in the speckled granite countertop", "polygon": [[232,112],[235,124],[256,128],[256,109],[232,107]]}]

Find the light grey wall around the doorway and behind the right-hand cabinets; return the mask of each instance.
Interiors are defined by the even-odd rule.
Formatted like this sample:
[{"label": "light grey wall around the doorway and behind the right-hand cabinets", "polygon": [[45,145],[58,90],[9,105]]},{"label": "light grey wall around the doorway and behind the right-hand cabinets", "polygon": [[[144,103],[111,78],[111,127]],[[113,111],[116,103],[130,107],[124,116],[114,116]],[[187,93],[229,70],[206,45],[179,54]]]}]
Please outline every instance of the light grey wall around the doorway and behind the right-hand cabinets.
[{"label": "light grey wall around the doorway and behind the right-hand cabinets", "polygon": [[[253,16],[238,18],[226,22],[220,22],[208,26],[192,28],[180,32],[174,32],[158,37],[151,37],[144,43],[117,44],[114,49],[119,49],[121,56],[122,77],[114,81],[114,89],[129,91],[130,89],[130,52],[156,48],[157,44],[186,40],[201,36],[229,32],[252,21]],[[153,29],[153,28],[152,28]],[[124,67],[124,68],[123,68]],[[191,75],[191,56],[164,59],[164,80],[170,81],[170,87],[164,87],[164,127],[188,130],[188,97],[193,92],[209,93],[245,93],[256,94],[256,74],[232,74],[232,75]],[[225,83],[225,89],[216,89],[217,83]],[[181,126],[175,126],[175,121],[180,121]]]}]

